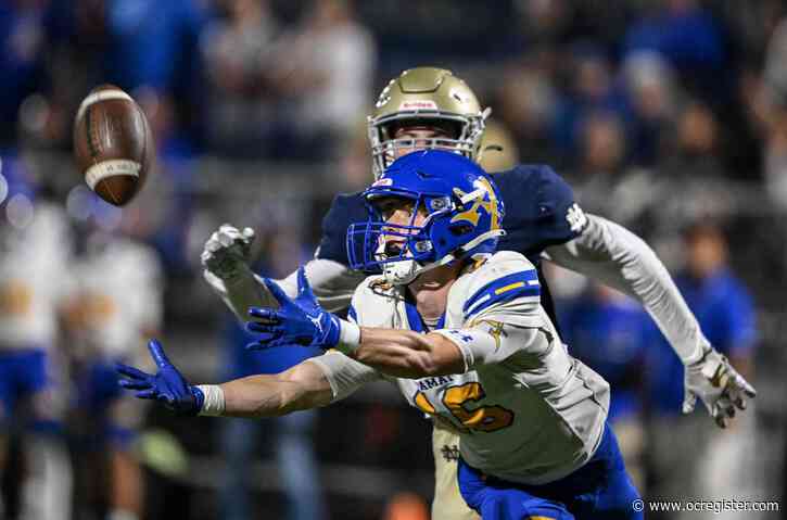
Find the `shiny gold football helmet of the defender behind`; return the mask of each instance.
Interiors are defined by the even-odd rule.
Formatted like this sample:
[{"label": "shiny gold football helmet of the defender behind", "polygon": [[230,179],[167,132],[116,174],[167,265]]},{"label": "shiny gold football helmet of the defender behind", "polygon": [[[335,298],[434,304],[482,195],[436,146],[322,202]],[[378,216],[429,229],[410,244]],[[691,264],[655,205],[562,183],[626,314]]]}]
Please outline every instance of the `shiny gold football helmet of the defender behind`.
[{"label": "shiny gold football helmet of the defender behind", "polygon": [[[417,67],[403,72],[380,92],[367,118],[372,170],[379,178],[399,155],[421,149],[454,150],[479,160],[481,138],[491,109],[481,109],[465,81],[445,68]],[[434,138],[396,138],[403,127],[439,128]]]}]

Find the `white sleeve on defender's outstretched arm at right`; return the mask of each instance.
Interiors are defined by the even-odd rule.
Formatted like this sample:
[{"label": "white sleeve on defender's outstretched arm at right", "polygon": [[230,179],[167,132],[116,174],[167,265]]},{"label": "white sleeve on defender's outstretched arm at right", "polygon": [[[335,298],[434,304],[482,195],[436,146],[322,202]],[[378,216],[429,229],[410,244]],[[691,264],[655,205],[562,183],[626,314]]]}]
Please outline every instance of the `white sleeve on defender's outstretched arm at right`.
[{"label": "white sleeve on defender's outstretched arm at right", "polygon": [[639,301],[681,360],[699,360],[710,342],[656,253],[622,226],[596,215],[587,220],[582,234],[545,256]]}]

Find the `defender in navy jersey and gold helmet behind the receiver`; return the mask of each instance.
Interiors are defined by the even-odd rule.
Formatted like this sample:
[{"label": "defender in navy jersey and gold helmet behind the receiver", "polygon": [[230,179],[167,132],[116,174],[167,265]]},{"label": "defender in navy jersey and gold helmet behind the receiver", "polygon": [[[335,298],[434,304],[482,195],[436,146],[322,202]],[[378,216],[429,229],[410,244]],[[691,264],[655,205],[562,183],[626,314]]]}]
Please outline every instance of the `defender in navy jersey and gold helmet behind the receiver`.
[{"label": "defender in navy jersey and gold helmet behind the receiver", "polygon": [[[481,157],[485,121],[472,90],[449,71],[419,67],[405,71],[381,92],[369,117],[373,173],[378,177],[397,156],[422,149],[452,150],[474,161]],[[495,173],[507,214],[499,249],[524,254],[536,267],[546,258],[611,286],[639,301],[686,367],[684,409],[699,397],[720,426],[734,415],[731,392],[748,388],[702,334],[667,269],[638,237],[602,217],[582,212],[571,188],[550,167],[520,165]],[[347,226],[361,221],[367,210],[360,193],[338,195],[322,224],[322,240],[305,269],[320,304],[329,312],[346,308],[365,278],[348,267]],[[203,252],[205,278],[243,320],[251,307],[276,305],[262,280],[247,267],[253,231],[223,226]],[[295,274],[281,280],[288,294],[297,290]],[[542,304],[550,314],[551,299],[542,280]],[[456,464],[442,457],[457,443],[435,426],[433,447],[437,487],[433,518],[472,518],[453,512]],[[450,452],[450,451],[447,451]],[[446,452],[446,453],[447,453]],[[452,498],[454,497],[454,498]],[[461,506],[458,506],[459,508]]]}]

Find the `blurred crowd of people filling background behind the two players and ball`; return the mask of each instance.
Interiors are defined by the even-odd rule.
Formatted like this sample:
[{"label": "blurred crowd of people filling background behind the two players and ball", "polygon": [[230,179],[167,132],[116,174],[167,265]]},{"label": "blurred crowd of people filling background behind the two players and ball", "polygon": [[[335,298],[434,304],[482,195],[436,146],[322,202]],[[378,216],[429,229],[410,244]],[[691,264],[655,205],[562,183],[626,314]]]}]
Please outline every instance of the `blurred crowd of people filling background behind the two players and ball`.
[{"label": "blurred crowd of people filling background behind the two players and ball", "polygon": [[[787,271],[784,1],[5,0],[0,48],[0,358],[25,345],[13,362],[25,368],[0,373],[10,433],[0,437],[0,518],[3,504],[9,518],[68,518],[72,504],[86,519],[158,518],[141,516],[145,507],[256,518],[243,490],[258,475],[240,469],[259,444],[280,461],[270,489],[290,506],[281,518],[381,518],[406,482],[355,510],[322,496],[316,460],[347,464],[354,442],[370,464],[429,472],[428,446],[414,448],[424,460],[409,467],[384,455],[409,446],[394,444],[397,432],[423,445],[426,430],[408,435],[407,413],[373,398],[358,405],[357,439],[318,440],[314,453],[316,424],[343,430],[341,411],[173,437],[118,398],[112,371],[157,333],[191,341],[176,352],[207,357],[191,368],[211,380],[276,371],[274,359],[244,357],[247,339],[201,283],[202,243],[232,221],[257,230],[267,276],[307,258],[332,195],[371,178],[366,116],[377,93],[418,65],[452,68],[493,109],[485,142],[503,150],[487,154],[488,169],[555,166],[585,211],[653,244],[747,378],[784,392],[758,377],[760,365],[767,375],[786,359],[758,351],[779,346],[769,332],[778,325],[759,328],[783,318]],[[157,145],[156,172],[123,211],[80,185],[69,157],[76,107],[106,83],[140,103]],[[644,495],[683,496],[689,483],[709,497],[780,491],[763,483],[754,422],[720,436],[699,413],[680,417],[682,367],[638,306],[549,275],[567,343],[612,383],[615,431]],[[708,439],[709,452],[675,449],[677,437]],[[326,449],[334,441],[344,460]],[[177,470],[183,449],[224,449],[210,506],[178,487],[191,482]],[[98,467],[109,468],[101,482]],[[156,502],[150,484],[145,497],[144,475],[191,497],[190,509],[172,495]],[[385,518],[427,518],[414,496],[391,500]]]}]

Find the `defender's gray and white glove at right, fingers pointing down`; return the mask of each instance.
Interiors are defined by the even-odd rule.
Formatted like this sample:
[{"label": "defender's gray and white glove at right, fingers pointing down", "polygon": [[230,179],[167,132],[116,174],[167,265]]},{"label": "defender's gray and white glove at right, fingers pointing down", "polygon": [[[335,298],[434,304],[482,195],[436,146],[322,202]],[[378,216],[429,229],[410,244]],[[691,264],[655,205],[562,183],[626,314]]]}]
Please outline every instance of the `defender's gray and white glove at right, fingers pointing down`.
[{"label": "defender's gray and white glove at right, fingers pointing down", "polygon": [[714,348],[688,365],[684,378],[683,413],[694,411],[699,397],[720,428],[727,427],[736,407],[746,409],[746,399],[757,395],[751,384]]}]

